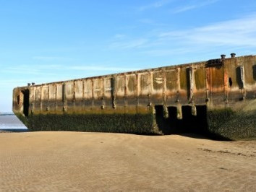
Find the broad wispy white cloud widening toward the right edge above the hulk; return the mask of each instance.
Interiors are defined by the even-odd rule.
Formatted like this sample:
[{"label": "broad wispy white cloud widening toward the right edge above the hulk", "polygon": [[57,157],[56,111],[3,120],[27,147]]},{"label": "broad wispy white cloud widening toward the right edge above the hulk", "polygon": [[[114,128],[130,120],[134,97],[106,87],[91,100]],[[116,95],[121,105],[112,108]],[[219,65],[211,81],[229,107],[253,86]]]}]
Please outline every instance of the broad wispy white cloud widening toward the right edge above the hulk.
[{"label": "broad wispy white cloud widening toward the right edge above the hulk", "polygon": [[216,22],[201,27],[188,28],[187,30],[166,32],[153,30],[135,39],[130,37],[119,40],[113,39],[109,48],[115,50],[133,50],[136,48],[140,53],[150,56],[205,53],[205,51],[218,53],[220,50],[236,50],[242,53],[248,49],[255,50],[256,13],[239,19]]}]

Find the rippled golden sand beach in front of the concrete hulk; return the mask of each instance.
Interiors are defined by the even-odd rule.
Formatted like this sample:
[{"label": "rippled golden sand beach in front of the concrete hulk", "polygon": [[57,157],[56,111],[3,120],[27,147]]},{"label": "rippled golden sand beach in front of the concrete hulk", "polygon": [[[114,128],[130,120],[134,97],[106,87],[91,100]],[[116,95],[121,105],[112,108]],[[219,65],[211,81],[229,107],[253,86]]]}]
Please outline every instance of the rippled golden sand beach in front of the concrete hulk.
[{"label": "rippled golden sand beach in front of the concrete hulk", "polygon": [[256,141],[0,134],[0,191],[255,191]]}]

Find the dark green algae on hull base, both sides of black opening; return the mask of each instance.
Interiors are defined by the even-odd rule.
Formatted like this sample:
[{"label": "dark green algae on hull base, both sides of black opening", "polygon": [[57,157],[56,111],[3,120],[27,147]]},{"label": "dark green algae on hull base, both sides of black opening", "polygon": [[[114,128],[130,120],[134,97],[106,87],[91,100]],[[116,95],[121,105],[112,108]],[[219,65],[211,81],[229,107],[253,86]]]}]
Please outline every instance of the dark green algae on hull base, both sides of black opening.
[{"label": "dark green algae on hull base, both sides of black opening", "polygon": [[[163,134],[163,117],[156,123],[155,113],[148,114],[16,114],[29,131],[96,131],[129,134]],[[215,139],[256,138],[256,110],[230,108],[208,110],[205,134]],[[160,123],[160,124],[159,124]],[[161,127],[161,130],[158,128]],[[166,125],[169,129],[169,125]],[[174,131],[174,130],[169,130]],[[169,132],[168,131],[168,132]]]}]

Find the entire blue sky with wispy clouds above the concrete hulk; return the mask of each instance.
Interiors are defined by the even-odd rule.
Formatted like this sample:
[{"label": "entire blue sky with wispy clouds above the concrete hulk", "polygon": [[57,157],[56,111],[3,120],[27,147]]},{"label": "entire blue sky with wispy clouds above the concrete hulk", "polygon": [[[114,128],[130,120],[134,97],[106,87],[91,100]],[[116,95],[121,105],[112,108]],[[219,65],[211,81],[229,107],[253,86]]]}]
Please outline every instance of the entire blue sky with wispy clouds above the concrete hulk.
[{"label": "entire blue sky with wispy clouds above the concrete hulk", "polygon": [[255,0],[0,0],[0,111],[12,89],[256,54]]}]

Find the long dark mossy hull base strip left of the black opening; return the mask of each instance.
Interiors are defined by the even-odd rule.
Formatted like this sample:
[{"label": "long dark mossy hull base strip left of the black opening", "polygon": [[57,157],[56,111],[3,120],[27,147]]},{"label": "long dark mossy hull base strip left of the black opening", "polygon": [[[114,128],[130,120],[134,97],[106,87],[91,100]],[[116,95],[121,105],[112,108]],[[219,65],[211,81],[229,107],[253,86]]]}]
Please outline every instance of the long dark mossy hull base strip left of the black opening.
[{"label": "long dark mossy hull base strip left of the black opening", "polygon": [[153,114],[63,114],[19,116],[30,131],[94,131],[131,134],[161,134]]}]

